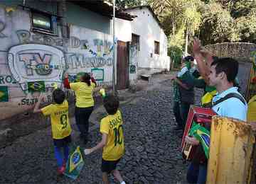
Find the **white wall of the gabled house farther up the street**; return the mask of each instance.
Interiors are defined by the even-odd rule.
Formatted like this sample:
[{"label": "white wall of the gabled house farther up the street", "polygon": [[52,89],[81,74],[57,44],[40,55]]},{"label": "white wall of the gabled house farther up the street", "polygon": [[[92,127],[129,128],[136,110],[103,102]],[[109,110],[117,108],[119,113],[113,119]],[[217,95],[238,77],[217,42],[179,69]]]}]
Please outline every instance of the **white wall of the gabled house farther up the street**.
[{"label": "white wall of the gabled house farther up the street", "polygon": [[[139,54],[134,50],[139,69],[160,71],[170,69],[170,58],[167,56],[167,37],[148,8],[143,7],[127,10],[127,13],[137,16],[132,21],[132,33],[140,36]],[[154,54],[154,41],[160,43],[160,53]],[[151,57],[152,55],[152,57]]]}]

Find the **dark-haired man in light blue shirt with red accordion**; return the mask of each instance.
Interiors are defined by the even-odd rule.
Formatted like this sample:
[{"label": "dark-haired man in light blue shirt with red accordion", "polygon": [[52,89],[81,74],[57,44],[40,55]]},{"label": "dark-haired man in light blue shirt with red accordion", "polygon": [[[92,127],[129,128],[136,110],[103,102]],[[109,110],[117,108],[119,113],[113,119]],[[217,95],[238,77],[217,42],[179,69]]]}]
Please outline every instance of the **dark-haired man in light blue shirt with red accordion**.
[{"label": "dark-haired man in light blue shirt with red accordion", "polygon": [[[223,117],[232,117],[238,120],[247,120],[247,103],[234,86],[235,77],[238,74],[238,62],[231,58],[217,59],[210,64],[208,75],[209,86],[217,90],[213,97],[213,111]],[[186,142],[191,145],[199,145],[194,137],[186,137]],[[201,151],[202,152],[202,151]],[[188,183],[206,183],[207,159],[201,159],[202,154],[196,152],[191,164],[188,166]]]}]

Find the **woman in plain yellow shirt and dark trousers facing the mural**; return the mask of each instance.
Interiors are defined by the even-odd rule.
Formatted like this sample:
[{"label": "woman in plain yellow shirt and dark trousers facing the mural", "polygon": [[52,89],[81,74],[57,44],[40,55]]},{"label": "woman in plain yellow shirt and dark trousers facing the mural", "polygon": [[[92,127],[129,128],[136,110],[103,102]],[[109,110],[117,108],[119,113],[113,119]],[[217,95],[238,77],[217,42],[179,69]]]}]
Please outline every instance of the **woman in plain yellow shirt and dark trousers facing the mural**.
[{"label": "woman in plain yellow shirt and dark trousers facing the mural", "polygon": [[90,74],[82,74],[80,81],[75,83],[69,83],[68,74],[65,75],[64,87],[75,91],[75,122],[80,131],[80,138],[85,144],[88,141],[89,118],[95,105],[92,97],[93,91],[96,90],[95,86]]}]

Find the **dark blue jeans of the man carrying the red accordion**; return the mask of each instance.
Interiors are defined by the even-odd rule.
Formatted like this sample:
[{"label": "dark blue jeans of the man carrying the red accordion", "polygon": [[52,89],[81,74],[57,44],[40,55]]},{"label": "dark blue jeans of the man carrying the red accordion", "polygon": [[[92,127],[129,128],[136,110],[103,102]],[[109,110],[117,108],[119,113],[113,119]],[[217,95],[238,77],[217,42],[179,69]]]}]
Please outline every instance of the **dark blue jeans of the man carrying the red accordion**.
[{"label": "dark blue jeans of the man carrying the red accordion", "polygon": [[188,183],[205,184],[207,176],[207,165],[190,163],[187,172]]}]

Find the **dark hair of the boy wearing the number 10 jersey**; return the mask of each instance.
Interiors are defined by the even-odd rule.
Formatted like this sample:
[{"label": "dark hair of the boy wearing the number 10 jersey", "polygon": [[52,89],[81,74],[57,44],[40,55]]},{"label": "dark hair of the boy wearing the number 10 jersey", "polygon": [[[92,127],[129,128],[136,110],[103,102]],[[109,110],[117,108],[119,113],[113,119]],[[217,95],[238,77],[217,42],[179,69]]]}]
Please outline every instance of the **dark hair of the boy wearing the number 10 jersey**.
[{"label": "dark hair of the boy wearing the number 10 jersey", "polygon": [[119,108],[119,100],[117,96],[114,96],[112,94],[107,95],[103,99],[103,105],[109,115],[114,115],[115,113],[117,113],[117,110]]}]

